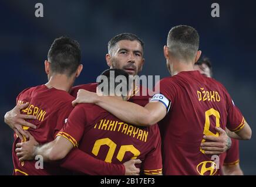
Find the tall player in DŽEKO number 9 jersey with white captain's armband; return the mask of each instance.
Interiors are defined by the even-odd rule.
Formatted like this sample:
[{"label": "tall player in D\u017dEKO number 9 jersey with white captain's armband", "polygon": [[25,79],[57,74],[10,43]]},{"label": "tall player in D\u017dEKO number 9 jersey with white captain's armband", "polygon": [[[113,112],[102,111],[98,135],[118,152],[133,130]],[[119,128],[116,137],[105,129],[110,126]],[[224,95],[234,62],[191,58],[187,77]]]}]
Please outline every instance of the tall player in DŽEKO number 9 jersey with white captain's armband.
[{"label": "tall player in D\u017dEKO number 9 jersey with white captain's armband", "polygon": [[[218,137],[220,127],[228,136],[249,140],[251,129],[219,82],[194,71],[201,55],[199,36],[193,27],[173,27],[164,46],[172,77],[161,79],[157,93],[144,108],[132,102],[80,90],[73,105],[96,103],[124,122],[150,126],[159,122],[162,138],[163,174],[218,175],[218,155],[201,150],[205,135]],[[218,130],[218,131],[217,131]]]}]

